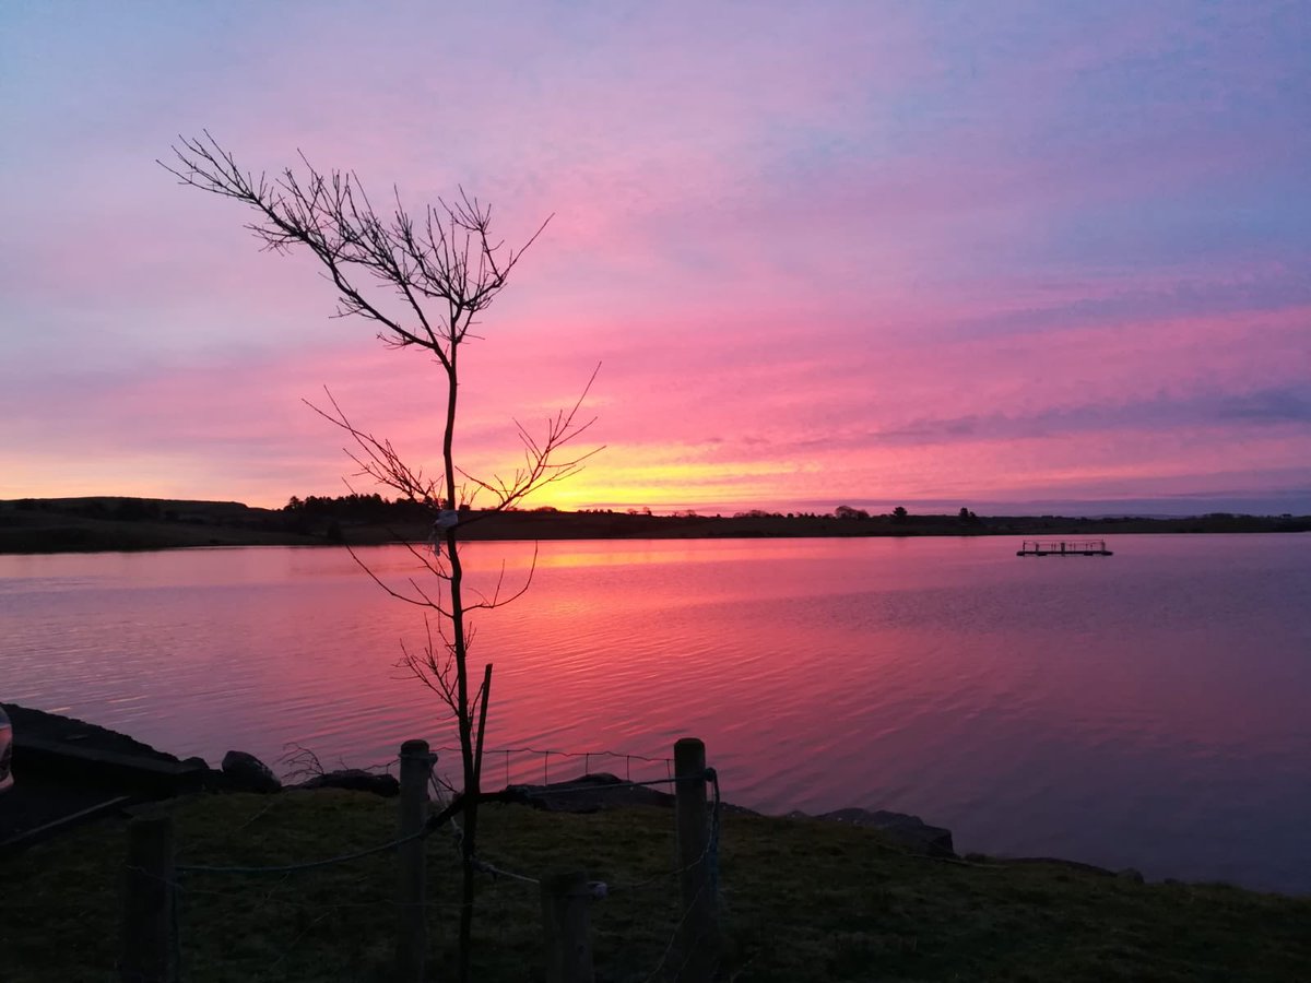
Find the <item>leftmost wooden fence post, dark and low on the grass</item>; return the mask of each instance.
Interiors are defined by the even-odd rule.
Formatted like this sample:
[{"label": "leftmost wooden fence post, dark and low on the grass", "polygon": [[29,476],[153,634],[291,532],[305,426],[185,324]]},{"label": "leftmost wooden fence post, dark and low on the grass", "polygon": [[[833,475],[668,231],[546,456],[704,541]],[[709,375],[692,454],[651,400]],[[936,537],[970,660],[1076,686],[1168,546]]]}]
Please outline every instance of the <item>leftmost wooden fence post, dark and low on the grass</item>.
[{"label": "leftmost wooden fence post, dark and low on the grass", "polygon": [[173,820],[135,817],[127,824],[122,983],[177,983]]}]

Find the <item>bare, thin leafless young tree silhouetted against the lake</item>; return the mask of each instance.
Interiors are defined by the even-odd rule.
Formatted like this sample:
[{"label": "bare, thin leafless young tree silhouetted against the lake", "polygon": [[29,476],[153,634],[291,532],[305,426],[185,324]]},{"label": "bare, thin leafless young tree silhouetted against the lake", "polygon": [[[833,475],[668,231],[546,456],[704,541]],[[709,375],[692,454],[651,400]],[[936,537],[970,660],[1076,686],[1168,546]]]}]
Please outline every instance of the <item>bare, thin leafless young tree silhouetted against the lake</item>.
[{"label": "bare, thin leafless young tree silhouetted against the lake", "polygon": [[427,585],[412,577],[396,587],[361,565],[388,594],[423,609],[426,642],[421,650],[405,649],[401,665],[442,697],[459,729],[464,803],[460,979],[467,980],[482,737],[492,687],[492,666],[486,665],[477,689],[472,689],[468,615],[509,603],[522,594],[527,581],[518,590],[503,591],[502,569],[490,595],[469,594],[459,550],[460,506],[472,505],[481,494],[484,501],[490,499],[490,510],[506,509],[531,492],[576,473],[595,450],[574,452],[572,446],[593,422],[578,415],[591,385],[589,380],[579,400],[548,418],[540,435],[534,436],[515,421],[523,460],[513,473],[477,477],[459,468],[454,450],[459,355],[464,342],[477,337],[471,333],[477,316],[505,287],[547,223],[523,246],[511,249],[492,237],[490,206],[463,189],[458,198],[438,199],[418,216],[402,207],[393,189],[393,207],[379,214],[353,172],[320,172],[304,155],[299,172],[287,168],[269,177],[239,168],[232,153],[207,131],[202,138],[180,138],[172,149],[174,159],[160,161],[161,166],[184,185],[249,207],[254,219],[246,228],[266,249],[286,253],[304,248],[319,260],[337,291],[338,317],[372,321],[384,343],[431,353],[443,371],[442,473],[437,477],[406,463],[389,440],[355,426],[332,393],[325,406],[311,405],[350,435],[353,450],[347,455],[358,465],[358,476],[421,502],[434,514],[430,548],[409,545],[433,578]]}]

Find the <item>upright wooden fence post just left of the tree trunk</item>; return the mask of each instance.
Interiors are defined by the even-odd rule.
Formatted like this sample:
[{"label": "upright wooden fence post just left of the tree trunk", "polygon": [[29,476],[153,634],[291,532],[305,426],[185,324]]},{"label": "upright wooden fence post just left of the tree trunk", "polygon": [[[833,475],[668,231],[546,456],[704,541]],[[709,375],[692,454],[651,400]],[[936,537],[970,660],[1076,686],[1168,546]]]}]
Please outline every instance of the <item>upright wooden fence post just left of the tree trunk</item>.
[{"label": "upright wooden fence post just left of the tree trunk", "polygon": [[[400,836],[410,836],[423,828],[431,772],[433,756],[426,741],[406,741],[401,744]],[[427,953],[423,844],[425,840],[414,839],[402,843],[396,851],[396,979],[401,983],[423,980],[423,957]]]}]

